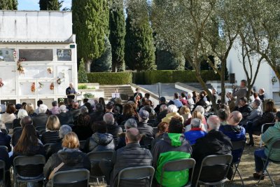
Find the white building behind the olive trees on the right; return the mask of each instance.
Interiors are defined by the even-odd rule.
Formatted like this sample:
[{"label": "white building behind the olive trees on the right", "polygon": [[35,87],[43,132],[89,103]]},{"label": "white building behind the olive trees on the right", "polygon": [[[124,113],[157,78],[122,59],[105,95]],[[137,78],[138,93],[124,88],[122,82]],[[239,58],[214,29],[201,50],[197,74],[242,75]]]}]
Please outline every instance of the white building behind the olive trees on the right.
[{"label": "white building behind the olive trees on the right", "polygon": [[[239,85],[240,81],[242,79],[246,80],[246,74],[243,68],[243,64],[241,63],[241,46],[239,46],[238,41],[235,42],[234,46],[232,47],[232,50],[230,50],[230,54],[228,56],[228,71],[229,74],[235,74],[235,80],[237,81],[237,85]],[[255,62],[253,64],[253,76],[255,74],[255,69],[257,67],[258,58],[255,58]],[[247,69],[248,63],[247,63]],[[277,82],[272,83],[272,78],[276,78],[274,71],[272,68],[265,62],[265,60],[262,61],[260,64],[260,68],[258,71],[258,76],[255,80],[254,88],[258,92],[260,88],[265,88],[265,94],[267,98],[274,99],[275,102],[280,102],[280,84],[279,80],[276,78]]]}]

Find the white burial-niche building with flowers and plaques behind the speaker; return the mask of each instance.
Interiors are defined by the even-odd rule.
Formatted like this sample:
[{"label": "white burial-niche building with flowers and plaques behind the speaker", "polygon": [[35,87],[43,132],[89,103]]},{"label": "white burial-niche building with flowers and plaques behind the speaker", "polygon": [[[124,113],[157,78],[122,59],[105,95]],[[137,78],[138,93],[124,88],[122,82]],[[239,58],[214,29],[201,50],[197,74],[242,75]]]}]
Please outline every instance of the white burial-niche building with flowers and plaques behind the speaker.
[{"label": "white burial-niche building with flowers and plaques behind the speaker", "polygon": [[75,40],[69,11],[0,11],[1,104],[65,98],[78,85]]}]

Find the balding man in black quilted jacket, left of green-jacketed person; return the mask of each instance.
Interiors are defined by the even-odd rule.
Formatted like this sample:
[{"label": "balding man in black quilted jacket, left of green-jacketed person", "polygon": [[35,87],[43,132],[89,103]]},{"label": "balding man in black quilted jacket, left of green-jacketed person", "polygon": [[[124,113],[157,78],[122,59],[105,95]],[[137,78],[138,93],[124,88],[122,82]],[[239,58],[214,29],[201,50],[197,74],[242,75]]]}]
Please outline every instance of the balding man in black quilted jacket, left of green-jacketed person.
[{"label": "balding man in black quilted jacket, left of green-jacketed person", "polygon": [[[125,133],[126,146],[119,148],[113,153],[111,160],[102,160],[99,167],[106,176],[107,183],[110,186],[116,186],[118,182],[118,173],[127,167],[140,167],[152,165],[153,156],[146,148],[141,148],[139,141],[141,135],[136,128],[130,128]],[[141,160],[141,161],[140,161]],[[138,181],[137,186],[147,186],[146,179]],[[123,181],[120,186],[135,186],[133,181]]]}]

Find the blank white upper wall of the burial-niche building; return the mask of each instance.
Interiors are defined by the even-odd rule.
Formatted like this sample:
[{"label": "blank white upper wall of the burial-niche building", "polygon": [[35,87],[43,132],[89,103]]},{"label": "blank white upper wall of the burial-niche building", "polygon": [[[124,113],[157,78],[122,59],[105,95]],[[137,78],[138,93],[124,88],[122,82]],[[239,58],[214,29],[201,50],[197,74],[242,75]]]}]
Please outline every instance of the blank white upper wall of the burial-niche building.
[{"label": "blank white upper wall of the burial-niche building", "polygon": [[0,41],[66,41],[71,36],[69,11],[0,11]]}]

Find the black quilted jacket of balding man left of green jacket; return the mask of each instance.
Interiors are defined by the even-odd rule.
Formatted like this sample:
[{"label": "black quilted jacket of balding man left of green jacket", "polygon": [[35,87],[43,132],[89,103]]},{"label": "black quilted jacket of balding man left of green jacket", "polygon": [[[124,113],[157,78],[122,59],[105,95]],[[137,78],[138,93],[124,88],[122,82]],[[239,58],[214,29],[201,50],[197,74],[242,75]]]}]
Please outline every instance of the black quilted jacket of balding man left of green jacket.
[{"label": "black quilted jacket of balding man left of green jacket", "polygon": [[[111,160],[113,162],[113,172],[111,173],[110,186],[116,186],[120,170],[127,167],[150,166],[152,165],[153,156],[148,149],[141,148],[140,144],[130,143],[115,151]],[[122,186],[132,186],[131,181],[123,181],[121,184]],[[133,186],[146,186],[146,180],[139,181],[137,185],[134,182]]]}]

